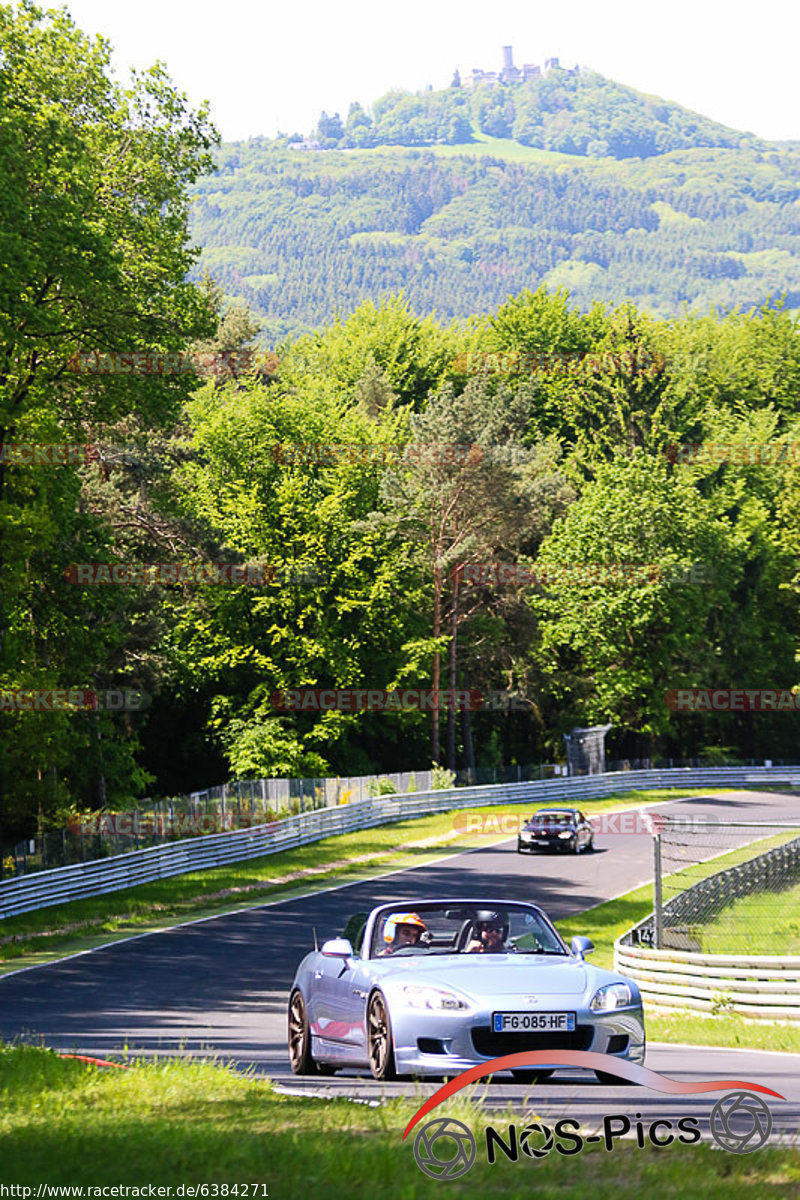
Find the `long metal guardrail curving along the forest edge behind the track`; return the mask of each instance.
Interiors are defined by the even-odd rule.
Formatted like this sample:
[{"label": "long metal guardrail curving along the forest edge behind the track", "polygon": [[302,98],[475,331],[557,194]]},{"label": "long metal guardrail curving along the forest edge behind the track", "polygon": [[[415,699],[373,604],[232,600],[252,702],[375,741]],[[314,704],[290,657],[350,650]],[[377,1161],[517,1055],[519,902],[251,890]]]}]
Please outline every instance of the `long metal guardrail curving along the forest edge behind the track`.
[{"label": "long metal guardrail curving along the forest edge behind the track", "polygon": [[284,821],[231,833],[191,838],[172,845],[150,846],[115,858],[22,876],[0,883],[0,919],[46,908],[68,900],[118,892],[137,883],[261,858],[302,846],[332,834],[389,824],[408,817],[493,804],[564,804],[602,798],[613,792],[652,787],[724,787],[736,784],[795,784],[796,767],[700,767],[631,770],[604,775],[459,787],[411,796],[383,796],[335,809],[318,809]]}]

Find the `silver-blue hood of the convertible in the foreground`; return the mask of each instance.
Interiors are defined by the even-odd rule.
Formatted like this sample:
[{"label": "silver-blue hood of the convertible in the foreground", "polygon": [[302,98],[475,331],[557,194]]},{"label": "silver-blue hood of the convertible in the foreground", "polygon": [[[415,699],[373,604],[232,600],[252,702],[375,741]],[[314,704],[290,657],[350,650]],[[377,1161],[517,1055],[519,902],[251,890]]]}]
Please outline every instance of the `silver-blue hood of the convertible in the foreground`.
[{"label": "silver-blue hood of the convertible in the foreground", "polygon": [[[408,964],[408,965],[407,965]],[[389,966],[389,964],[387,964]],[[458,954],[429,959],[396,959],[392,980],[427,988],[456,988],[476,1000],[518,995],[579,996],[587,990],[587,967],[567,958],[521,954]]]}]

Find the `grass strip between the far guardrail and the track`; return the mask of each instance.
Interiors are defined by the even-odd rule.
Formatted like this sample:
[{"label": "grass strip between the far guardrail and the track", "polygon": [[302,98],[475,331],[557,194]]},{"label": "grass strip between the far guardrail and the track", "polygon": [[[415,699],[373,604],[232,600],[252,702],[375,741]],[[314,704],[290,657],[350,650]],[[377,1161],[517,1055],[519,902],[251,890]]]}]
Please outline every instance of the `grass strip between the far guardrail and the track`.
[{"label": "grass strip between the far guardrail and the track", "polygon": [[[621,792],[602,800],[587,800],[582,806],[588,814],[597,814],[684,797],[722,796],[729,791],[696,788],[679,792],[661,788]],[[34,965],[47,961],[56,953],[101,946],[126,932],[164,929],[176,920],[216,916],[265,900],[288,898],[299,888],[308,890],[309,887],[324,887],[331,882],[369,878],[379,871],[421,866],[443,854],[462,853],[498,841],[504,835],[511,836],[511,826],[506,828],[503,824],[504,816],[511,816],[513,823],[521,811],[535,806],[498,805],[439,812],[415,821],[325,838],[264,858],[22,913],[0,922],[0,962]],[[492,826],[482,834],[465,834],[453,824],[459,811],[486,815],[492,818]]]}]

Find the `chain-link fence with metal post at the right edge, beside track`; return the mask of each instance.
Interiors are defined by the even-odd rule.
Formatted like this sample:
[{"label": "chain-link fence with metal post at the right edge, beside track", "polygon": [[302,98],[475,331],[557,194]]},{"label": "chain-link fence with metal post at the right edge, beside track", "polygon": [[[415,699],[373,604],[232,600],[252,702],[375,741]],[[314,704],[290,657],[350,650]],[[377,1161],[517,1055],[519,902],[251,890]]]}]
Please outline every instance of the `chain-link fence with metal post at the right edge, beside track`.
[{"label": "chain-link fence with metal post at the right edge, beside track", "polygon": [[800,821],[654,816],[654,918],[638,941],[703,954],[800,954]]}]

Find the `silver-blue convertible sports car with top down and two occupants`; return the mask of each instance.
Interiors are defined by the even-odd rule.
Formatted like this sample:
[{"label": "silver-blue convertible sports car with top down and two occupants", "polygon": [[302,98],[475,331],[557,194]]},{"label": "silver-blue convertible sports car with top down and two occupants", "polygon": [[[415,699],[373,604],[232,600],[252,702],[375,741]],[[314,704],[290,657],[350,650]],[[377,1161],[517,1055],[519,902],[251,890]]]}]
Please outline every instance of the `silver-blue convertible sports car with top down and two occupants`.
[{"label": "silver-blue convertible sports car with top down and two occupants", "polygon": [[[567,949],[541,908],[500,900],[389,904],[350,918],[297,967],[289,996],[295,1074],[368,1068],[375,1079],[456,1075],[522,1050],[644,1061],[642,997],[632,979]],[[621,1082],[621,1080],[620,1080]]]}]

